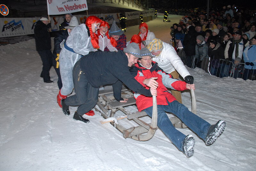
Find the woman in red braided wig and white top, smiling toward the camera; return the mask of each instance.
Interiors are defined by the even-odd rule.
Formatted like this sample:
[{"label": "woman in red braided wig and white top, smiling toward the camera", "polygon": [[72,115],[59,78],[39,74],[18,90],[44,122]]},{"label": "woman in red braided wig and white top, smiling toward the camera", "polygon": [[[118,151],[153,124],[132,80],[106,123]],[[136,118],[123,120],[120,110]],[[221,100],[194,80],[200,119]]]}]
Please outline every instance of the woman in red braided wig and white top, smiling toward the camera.
[{"label": "woman in red braided wig and white top, smiling toward the camera", "polygon": [[117,42],[113,37],[109,37],[108,29],[109,29],[108,22],[102,21],[102,23],[100,24],[100,29],[98,30],[100,50],[104,51],[104,49],[107,47],[109,51],[117,52],[117,49],[115,48],[117,45]]}]

